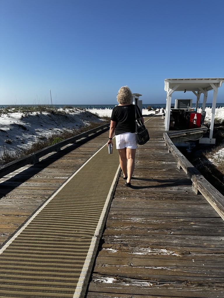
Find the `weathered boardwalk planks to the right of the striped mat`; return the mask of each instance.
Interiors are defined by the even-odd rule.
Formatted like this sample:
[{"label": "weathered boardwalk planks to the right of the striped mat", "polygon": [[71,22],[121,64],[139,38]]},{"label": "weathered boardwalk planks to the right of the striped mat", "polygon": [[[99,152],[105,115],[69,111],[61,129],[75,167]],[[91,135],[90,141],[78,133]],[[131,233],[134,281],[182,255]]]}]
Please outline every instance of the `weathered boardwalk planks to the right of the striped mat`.
[{"label": "weathered boardwalk planks to the right of the striped mat", "polygon": [[224,221],[146,122],[133,188],[119,179],[86,298],[224,297]]}]

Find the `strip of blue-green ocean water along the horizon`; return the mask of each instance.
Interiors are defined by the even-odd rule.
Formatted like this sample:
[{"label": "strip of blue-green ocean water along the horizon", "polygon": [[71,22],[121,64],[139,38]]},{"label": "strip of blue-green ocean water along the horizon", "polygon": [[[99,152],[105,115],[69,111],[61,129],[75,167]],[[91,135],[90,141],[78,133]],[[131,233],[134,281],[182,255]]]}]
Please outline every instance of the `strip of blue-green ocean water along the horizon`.
[{"label": "strip of blue-green ocean water along the horizon", "polygon": [[[38,107],[39,105],[0,105],[1,108],[8,108],[8,107]],[[72,108],[85,108],[85,109],[113,109],[116,105],[44,105],[44,106],[53,106],[56,108],[64,108],[64,107],[72,107]],[[143,109],[148,109],[148,106],[151,106],[151,108],[165,108],[166,103],[143,103],[142,108]],[[171,103],[171,108],[174,108],[175,104]],[[202,103],[199,103],[198,105],[199,108],[202,108]],[[207,103],[206,107],[211,108],[212,103]],[[223,108],[224,103],[217,103],[216,108]],[[192,108],[195,108],[195,103],[192,103]]]}]

